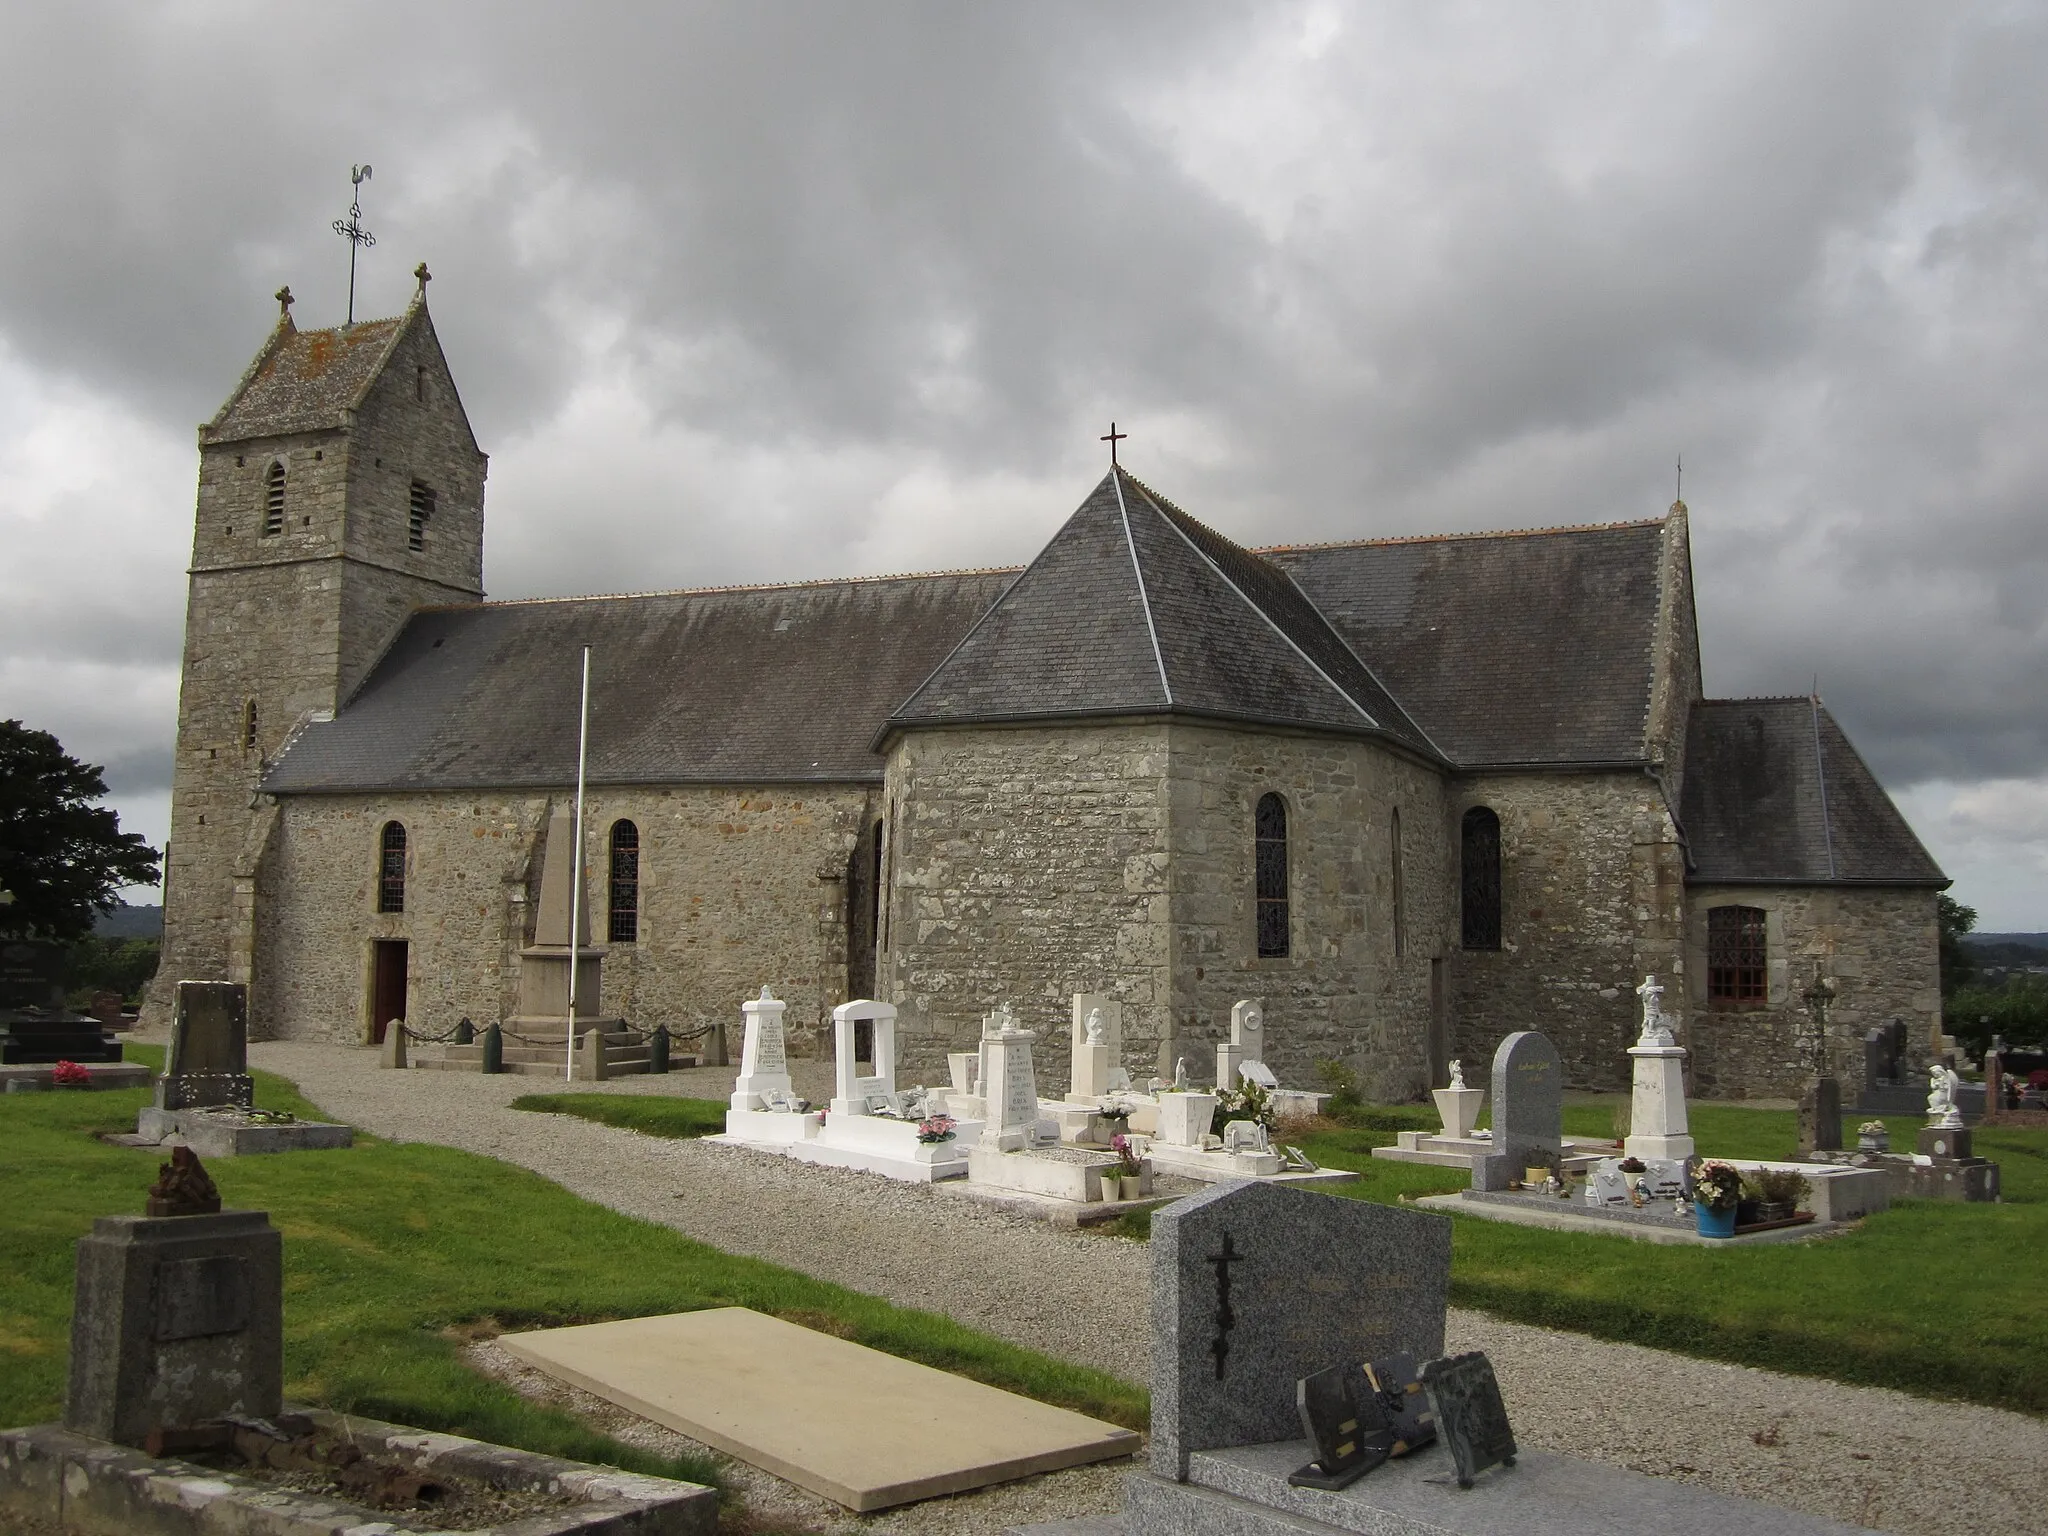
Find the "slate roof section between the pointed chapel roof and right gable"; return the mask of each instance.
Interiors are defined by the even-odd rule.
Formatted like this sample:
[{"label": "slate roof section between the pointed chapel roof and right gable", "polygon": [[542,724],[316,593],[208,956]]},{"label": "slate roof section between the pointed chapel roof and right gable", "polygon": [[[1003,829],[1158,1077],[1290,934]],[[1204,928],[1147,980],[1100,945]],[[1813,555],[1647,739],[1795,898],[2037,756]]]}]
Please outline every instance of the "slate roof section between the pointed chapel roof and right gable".
[{"label": "slate roof section between the pointed chapel roof and right gable", "polygon": [[1460,768],[1642,762],[1663,520],[1260,551]]}]

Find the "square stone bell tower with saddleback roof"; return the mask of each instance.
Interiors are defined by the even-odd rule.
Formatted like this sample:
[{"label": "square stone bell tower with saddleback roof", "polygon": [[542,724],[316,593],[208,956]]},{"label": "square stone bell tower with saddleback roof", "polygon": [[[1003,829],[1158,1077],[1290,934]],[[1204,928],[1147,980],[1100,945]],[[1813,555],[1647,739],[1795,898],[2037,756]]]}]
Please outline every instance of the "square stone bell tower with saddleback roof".
[{"label": "square stone bell tower with saddleback roof", "polygon": [[[483,598],[487,457],[426,311],[299,330],[291,289],[242,383],[199,428],[199,512],[164,874],[178,981],[248,981],[276,811],[262,776],[346,707],[408,614]],[[260,1034],[264,1020],[250,1020]]]}]

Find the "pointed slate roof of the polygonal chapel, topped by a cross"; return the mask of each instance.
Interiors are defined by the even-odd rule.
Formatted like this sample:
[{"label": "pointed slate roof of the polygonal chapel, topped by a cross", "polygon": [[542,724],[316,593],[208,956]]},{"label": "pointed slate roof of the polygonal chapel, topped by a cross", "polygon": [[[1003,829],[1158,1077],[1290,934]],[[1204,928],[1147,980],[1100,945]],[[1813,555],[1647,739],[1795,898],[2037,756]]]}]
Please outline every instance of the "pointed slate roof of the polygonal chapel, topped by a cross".
[{"label": "pointed slate roof of the polygonal chapel, topped by a cross", "polygon": [[1286,571],[1118,469],[891,725],[1167,711],[1440,756]]}]

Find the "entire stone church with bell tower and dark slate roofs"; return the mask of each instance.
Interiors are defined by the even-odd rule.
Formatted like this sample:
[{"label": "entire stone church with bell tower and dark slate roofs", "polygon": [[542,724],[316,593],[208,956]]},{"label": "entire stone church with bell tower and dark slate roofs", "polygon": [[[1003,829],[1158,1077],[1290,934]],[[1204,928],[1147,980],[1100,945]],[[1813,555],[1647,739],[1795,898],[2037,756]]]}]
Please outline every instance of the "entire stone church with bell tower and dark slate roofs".
[{"label": "entire stone church with bell tower and dark slate roofs", "polygon": [[485,602],[424,276],[338,330],[279,297],[199,430],[160,973],[258,1036],[512,1014],[588,645],[639,1028],[874,995],[938,1079],[1094,991],[1145,1077],[1262,997],[1284,1081],[1376,1098],[1520,1028],[1620,1085],[1645,973],[1706,1096],[1790,1092],[1817,975],[1843,1067],[1935,1038],[1946,879],[1819,698],[1702,696],[1683,504],[1245,549],[1112,467],[1022,569]]}]

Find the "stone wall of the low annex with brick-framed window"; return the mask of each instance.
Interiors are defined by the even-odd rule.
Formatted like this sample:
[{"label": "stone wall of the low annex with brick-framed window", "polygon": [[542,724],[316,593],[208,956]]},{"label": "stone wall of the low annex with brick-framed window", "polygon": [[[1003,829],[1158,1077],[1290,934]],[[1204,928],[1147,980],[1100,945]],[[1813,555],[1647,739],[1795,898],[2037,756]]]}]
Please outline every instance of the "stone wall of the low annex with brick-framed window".
[{"label": "stone wall of the low annex with brick-framed window", "polygon": [[[1706,997],[1708,909],[1761,907],[1767,1001],[1729,1008]],[[1812,885],[1704,885],[1688,893],[1688,989],[1694,1092],[1700,1098],[1792,1098],[1806,1077],[1800,993],[1815,975],[1833,979],[1829,1008],[1833,1069],[1843,1102],[1855,1100],[1864,1032],[1903,1018],[1915,1061],[1942,1028],[1935,893]]]}]

